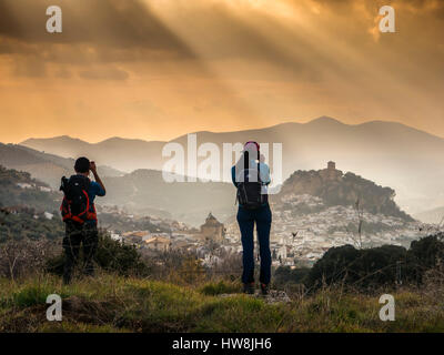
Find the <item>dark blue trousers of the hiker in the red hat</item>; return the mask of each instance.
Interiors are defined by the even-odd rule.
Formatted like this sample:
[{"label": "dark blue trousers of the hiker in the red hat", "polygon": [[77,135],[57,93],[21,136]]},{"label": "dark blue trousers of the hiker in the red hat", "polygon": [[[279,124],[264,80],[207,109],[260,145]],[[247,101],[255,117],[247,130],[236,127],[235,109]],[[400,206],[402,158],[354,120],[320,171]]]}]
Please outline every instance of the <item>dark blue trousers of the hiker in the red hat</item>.
[{"label": "dark blue trousers of the hiker in the red hat", "polygon": [[243,274],[244,284],[254,282],[254,223],[258,230],[258,240],[261,256],[260,282],[270,283],[271,277],[271,252],[270,252],[270,229],[271,210],[266,204],[256,210],[246,210],[242,206],[238,211],[238,223],[242,235],[243,246]]}]

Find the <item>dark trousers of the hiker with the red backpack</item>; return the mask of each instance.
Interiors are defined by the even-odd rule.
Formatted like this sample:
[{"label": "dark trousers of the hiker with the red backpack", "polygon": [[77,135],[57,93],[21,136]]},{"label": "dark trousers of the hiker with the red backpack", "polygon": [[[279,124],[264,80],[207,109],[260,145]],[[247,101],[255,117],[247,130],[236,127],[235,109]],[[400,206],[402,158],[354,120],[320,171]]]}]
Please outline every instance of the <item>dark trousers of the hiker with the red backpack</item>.
[{"label": "dark trousers of the hiker with the red backpack", "polygon": [[65,255],[63,282],[71,282],[72,271],[79,261],[80,245],[83,247],[84,268],[87,275],[94,274],[93,257],[99,243],[99,232],[95,224],[78,225],[72,222],[65,224],[63,250]]}]

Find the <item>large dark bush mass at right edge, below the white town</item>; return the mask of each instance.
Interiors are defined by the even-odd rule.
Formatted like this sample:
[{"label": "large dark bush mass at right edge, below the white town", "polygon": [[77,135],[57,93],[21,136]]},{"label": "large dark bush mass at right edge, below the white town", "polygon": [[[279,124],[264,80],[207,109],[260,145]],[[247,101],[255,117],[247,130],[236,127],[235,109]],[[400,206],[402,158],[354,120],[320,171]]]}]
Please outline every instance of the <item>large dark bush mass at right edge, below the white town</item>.
[{"label": "large dark bush mass at right edge, below the white town", "polygon": [[410,250],[383,245],[356,250],[352,245],[330,248],[311,270],[306,285],[344,284],[359,288],[422,284],[431,270],[442,268],[444,234],[428,235],[411,244]]}]

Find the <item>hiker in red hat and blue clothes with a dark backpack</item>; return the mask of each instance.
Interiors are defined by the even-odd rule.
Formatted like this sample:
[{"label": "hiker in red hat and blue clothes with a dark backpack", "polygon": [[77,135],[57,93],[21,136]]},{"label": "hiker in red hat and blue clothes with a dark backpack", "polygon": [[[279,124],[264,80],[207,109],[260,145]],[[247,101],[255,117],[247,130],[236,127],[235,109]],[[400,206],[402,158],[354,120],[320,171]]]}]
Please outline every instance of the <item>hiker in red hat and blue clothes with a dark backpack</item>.
[{"label": "hiker in red hat and blue clothes with a dark backpack", "polygon": [[269,294],[271,278],[270,230],[272,214],[269,205],[268,185],[270,168],[260,154],[256,142],[246,142],[241,159],[231,169],[233,184],[238,187],[238,223],[243,247],[242,283],[244,293],[254,294],[254,224],[260,246],[260,283],[263,295]]}]

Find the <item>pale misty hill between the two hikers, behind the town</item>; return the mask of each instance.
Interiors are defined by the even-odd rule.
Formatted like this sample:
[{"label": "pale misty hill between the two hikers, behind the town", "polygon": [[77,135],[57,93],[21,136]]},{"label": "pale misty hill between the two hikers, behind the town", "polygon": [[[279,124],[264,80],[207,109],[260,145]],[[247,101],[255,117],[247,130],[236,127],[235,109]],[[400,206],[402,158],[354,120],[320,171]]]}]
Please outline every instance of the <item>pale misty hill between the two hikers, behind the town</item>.
[{"label": "pale misty hill between the two hikers, behind the town", "polygon": [[172,216],[199,225],[209,212],[222,221],[235,212],[235,189],[228,183],[167,183],[162,172],[154,170],[105,178],[103,183],[107,196],[98,199],[98,204],[118,205],[132,213]]}]

